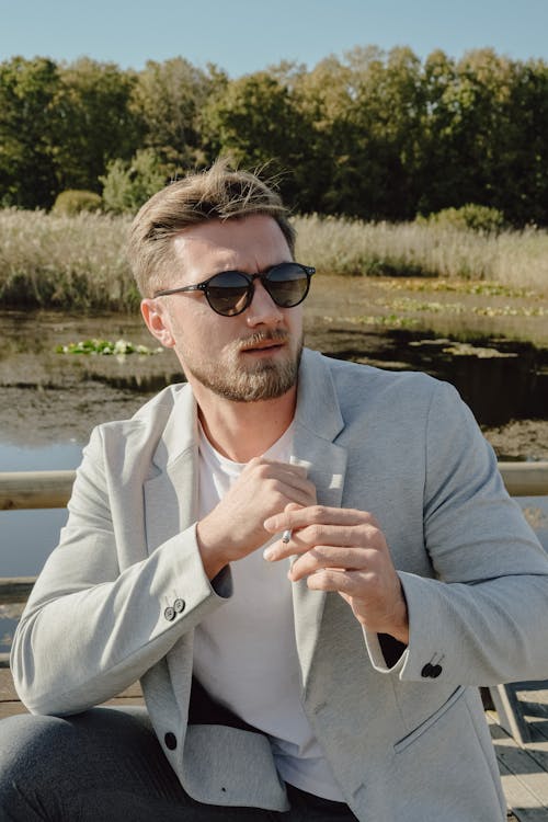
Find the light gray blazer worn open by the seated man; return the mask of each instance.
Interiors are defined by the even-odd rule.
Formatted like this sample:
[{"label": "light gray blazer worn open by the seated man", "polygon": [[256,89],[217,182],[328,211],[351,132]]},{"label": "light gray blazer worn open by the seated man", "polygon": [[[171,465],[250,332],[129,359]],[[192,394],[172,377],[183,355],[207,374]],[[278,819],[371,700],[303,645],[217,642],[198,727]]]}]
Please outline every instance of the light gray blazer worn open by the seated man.
[{"label": "light gray blazer worn open by the seated man", "polygon": [[[390,667],[338,594],[294,585],[302,704],[349,806],[364,821],[503,820],[468,686],[548,676],[548,560],[470,412],[427,376],[306,351],[293,458],[319,502],[379,520],[409,606],[409,648]],[[187,724],[193,628],[231,595],[230,570],[214,587],[199,561],[196,470],[189,386],[93,432],[14,639],[18,690],[62,715],[140,678],[191,796],[283,810],[265,737]]]}]

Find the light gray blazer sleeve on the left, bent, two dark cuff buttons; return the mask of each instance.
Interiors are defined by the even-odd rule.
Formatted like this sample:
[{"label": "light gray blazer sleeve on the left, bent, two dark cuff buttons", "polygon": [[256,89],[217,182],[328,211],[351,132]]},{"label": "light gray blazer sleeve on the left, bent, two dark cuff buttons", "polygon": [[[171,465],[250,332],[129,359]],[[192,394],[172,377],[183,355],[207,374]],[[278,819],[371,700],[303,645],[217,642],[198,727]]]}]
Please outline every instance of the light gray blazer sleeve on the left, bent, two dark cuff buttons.
[{"label": "light gray blazer sleeve on the left, bent, two dark cuff buttons", "polygon": [[35,713],[73,713],[115,696],[231,593],[228,570],[214,583],[204,573],[195,525],[121,570],[109,484],[95,430],[60,543],[13,641],[15,688]]}]

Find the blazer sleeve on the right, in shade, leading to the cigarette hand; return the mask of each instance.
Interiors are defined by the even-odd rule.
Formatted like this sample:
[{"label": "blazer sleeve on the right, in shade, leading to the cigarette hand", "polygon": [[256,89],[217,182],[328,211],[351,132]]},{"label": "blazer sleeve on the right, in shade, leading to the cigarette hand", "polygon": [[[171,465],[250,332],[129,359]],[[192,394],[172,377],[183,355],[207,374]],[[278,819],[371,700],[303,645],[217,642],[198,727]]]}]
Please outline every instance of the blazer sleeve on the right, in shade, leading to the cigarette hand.
[{"label": "blazer sleeve on the right, in shade, leading to the cigarette hand", "polygon": [[547,555],[509,496],[470,410],[447,384],[435,386],[424,447],[424,546],[434,576],[400,572],[409,646],[390,669],[378,636],[366,632],[373,664],[402,681],[548,677]]}]

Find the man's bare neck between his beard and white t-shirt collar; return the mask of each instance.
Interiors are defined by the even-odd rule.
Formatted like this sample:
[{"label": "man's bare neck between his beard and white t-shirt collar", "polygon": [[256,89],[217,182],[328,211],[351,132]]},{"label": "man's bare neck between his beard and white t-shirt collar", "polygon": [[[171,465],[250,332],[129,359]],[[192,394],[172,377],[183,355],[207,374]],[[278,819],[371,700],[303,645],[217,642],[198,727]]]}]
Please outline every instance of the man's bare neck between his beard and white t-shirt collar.
[{"label": "man's bare neck between his beard and white t-shirt collar", "polygon": [[292,424],[296,387],[274,400],[233,402],[195,391],[205,435],[220,454],[235,463],[249,463],[264,454]]}]

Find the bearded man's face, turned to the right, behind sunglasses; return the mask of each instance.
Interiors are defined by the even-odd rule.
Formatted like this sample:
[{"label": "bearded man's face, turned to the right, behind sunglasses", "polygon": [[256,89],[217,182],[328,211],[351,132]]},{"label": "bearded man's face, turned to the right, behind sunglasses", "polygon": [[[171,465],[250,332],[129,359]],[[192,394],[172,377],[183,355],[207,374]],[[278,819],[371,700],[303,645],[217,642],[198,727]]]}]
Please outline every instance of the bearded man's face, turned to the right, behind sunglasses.
[{"label": "bearded man's face, turned to the right, behind sunglasses", "polygon": [[[210,220],[173,240],[179,271],[165,287],[193,285],[221,271],[255,274],[292,260],[277,222],[265,215]],[[302,306],[279,308],[254,281],[251,305],[221,317],[201,292],[145,299],[149,330],[173,347],[196,393],[205,387],[239,402],[281,397],[297,379],[302,349]]]}]

